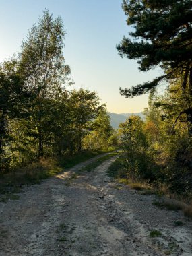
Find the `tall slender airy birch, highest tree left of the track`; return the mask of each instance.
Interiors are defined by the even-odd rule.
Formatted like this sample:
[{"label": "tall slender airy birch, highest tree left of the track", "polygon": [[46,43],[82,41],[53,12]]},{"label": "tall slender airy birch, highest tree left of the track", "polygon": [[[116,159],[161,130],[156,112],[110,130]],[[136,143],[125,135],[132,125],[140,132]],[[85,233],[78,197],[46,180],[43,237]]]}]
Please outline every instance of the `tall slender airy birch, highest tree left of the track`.
[{"label": "tall slender airy birch, highest tree left of the track", "polygon": [[50,99],[59,96],[70,73],[62,52],[64,36],[61,18],[54,19],[49,11],[44,11],[38,25],[29,31],[20,53],[20,73],[25,86],[34,94],[30,122],[38,138],[38,157],[44,155],[44,133],[49,127],[46,120],[51,115]]}]

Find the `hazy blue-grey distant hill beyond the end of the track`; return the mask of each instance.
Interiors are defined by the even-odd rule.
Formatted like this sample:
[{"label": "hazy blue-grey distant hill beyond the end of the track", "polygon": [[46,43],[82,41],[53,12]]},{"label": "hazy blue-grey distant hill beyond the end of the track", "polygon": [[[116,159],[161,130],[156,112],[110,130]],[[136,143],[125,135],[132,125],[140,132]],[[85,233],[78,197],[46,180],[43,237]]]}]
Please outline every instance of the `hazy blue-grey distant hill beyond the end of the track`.
[{"label": "hazy blue-grey distant hill beyond the end of the track", "polygon": [[119,126],[119,123],[125,122],[125,120],[128,117],[130,117],[131,115],[137,115],[137,116],[141,117],[141,119],[144,119],[144,115],[143,115],[142,112],[139,112],[139,113],[121,113],[121,114],[108,112],[108,115],[110,116],[110,125],[114,129],[117,129],[118,126]]}]

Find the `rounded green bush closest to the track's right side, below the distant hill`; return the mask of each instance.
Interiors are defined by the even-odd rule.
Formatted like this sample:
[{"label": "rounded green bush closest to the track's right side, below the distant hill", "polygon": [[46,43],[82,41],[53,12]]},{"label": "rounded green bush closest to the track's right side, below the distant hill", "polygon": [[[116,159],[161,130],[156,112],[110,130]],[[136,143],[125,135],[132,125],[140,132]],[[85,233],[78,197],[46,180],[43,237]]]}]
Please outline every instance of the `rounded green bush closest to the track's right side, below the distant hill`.
[{"label": "rounded green bush closest to the track's right side, below the distant hill", "polygon": [[131,116],[125,123],[119,125],[121,148],[123,153],[123,169],[125,175],[131,179],[154,180],[156,166],[148,148],[148,141],[144,132],[144,123],[138,116]]}]

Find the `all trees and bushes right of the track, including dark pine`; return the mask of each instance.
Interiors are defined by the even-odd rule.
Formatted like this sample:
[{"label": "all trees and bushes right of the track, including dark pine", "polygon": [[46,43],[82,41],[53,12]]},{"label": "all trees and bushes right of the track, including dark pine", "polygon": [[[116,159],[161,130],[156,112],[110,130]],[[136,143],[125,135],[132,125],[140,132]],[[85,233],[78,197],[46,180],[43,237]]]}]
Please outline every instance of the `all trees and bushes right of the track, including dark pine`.
[{"label": "all trees and bushes right of the track, including dark pine", "polygon": [[[130,117],[119,127],[120,177],[154,183],[191,200],[192,38],[191,1],[123,1],[133,30],[117,44],[121,57],[137,59],[140,71],[161,67],[150,82],[120,88],[133,98],[149,93],[145,120]],[[158,85],[166,85],[158,94]],[[163,189],[166,187],[166,189]]]}]

